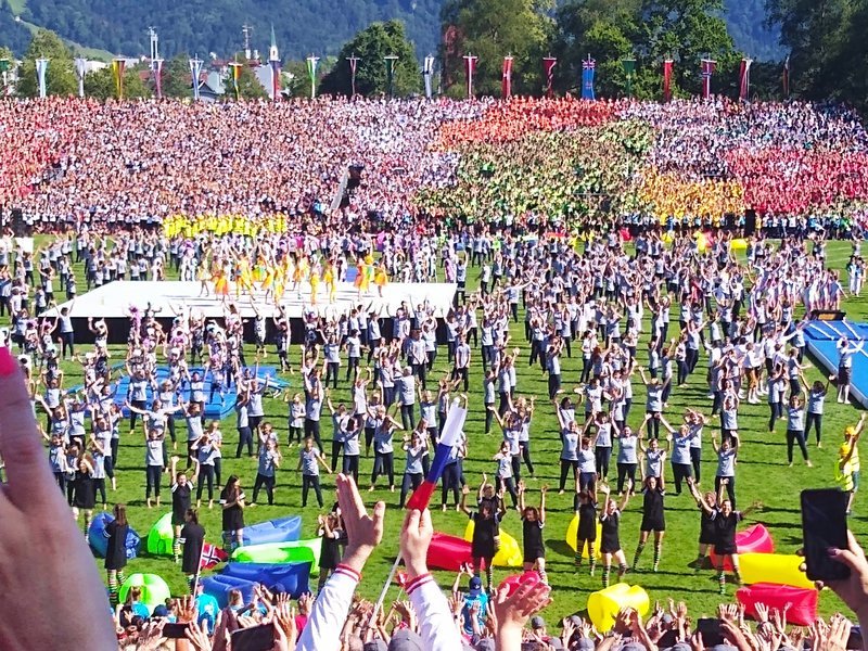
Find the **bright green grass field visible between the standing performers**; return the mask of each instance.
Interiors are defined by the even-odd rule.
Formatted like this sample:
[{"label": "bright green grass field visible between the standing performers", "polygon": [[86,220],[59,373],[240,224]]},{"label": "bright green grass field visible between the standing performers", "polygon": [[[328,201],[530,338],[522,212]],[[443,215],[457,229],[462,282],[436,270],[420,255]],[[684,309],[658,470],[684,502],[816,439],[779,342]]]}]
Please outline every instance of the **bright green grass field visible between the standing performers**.
[{"label": "bright green grass field visible between the standing performers", "polygon": [[[43,240],[38,240],[41,242]],[[850,255],[850,244],[834,242],[828,247],[829,264],[835,268],[843,268]],[[77,272],[81,275],[80,266]],[[475,281],[475,275],[471,283]],[[80,291],[84,292],[84,278],[79,279]],[[848,299],[845,309],[851,320],[861,320],[868,312],[868,302],[861,299]],[[677,323],[674,322],[677,327]],[[646,336],[648,327],[646,327]],[[550,405],[545,400],[547,393],[546,376],[539,372],[538,367],[529,369],[527,367],[528,346],[524,344],[523,323],[520,321],[512,327],[513,341],[522,346],[522,363],[520,365],[518,393],[520,395],[536,395],[540,399],[537,413],[532,425],[533,457],[537,467],[538,480],[528,481],[528,502],[535,503],[539,498],[539,486],[549,484],[553,490],[549,494],[548,518],[545,529],[547,544],[547,564],[549,580],[553,588],[553,603],[547,609],[544,615],[549,623],[554,623],[564,615],[580,611],[587,603],[588,596],[601,588],[600,572],[591,578],[587,574],[587,565],[582,574],[576,574],[573,566],[572,550],[564,542],[564,533],[573,515],[572,494],[567,492],[563,496],[557,495],[557,482],[559,474],[559,454],[560,442],[558,435],[557,419]],[[643,337],[644,341],[644,337]],[[642,346],[640,346],[640,350]],[[574,352],[575,353],[575,352]],[[297,347],[292,350],[297,362]],[[253,355],[250,355],[252,358]],[[484,407],[481,399],[482,394],[482,368],[477,352],[474,350],[474,368],[471,373],[470,392],[470,416],[465,427],[470,442],[469,457],[465,462],[465,476],[471,486],[477,486],[483,472],[494,474],[495,463],[490,461],[492,456],[497,451],[500,441],[498,434],[484,434]],[[445,373],[446,355],[438,356],[437,371]],[[711,400],[706,398],[707,387],[704,381],[705,359],[700,361],[698,372],[690,379],[689,385],[677,387],[673,392],[669,400],[669,409],[666,413],[672,422],[679,422],[679,417],[685,407],[700,409],[705,413],[711,411]],[[266,362],[275,363],[276,356],[273,350],[269,350],[269,358]],[[644,362],[640,359],[640,362]],[[578,358],[563,360],[562,378],[564,386],[569,390],[574,386],[580,372],[580,352]],[[71,365],[64,367],[67,376],[66,386],[80,383],[80,369],[73,368]],[[702,372],[699,370],[702,369]],[[436,378],[436,374],[433,374]],[[821,374],[817,369],[812,368],[807,371],[809,381],[819,379]],[[297,379],[289,376],[288,380],[297,386]],[[634,382],[635,397],[634,409],[630,414],[630,422],[634,426],[638,425],[643,413],[644,392],[638,379]],[[348,387],[344,384],[334,392],[335,404],[341,400],[349,400]],[[764,523],[771,532],[775,539],[777,551],[792,553],[801,546],[801,524],[799,510],[799,492],[805,487],[824,487],[834,485],[834,463],[835,450],[843,429],[847,424],[855,423],[858,419],[857,410],[850,405],[838,405],[834,396],[827,400],[826,417],[824,419],[825,445],[817,449],[812,445],[810,458],[814,468],[808,469],[796,462],[794,468],[788,469],[786,462],[784,430],[786,423],[779,423],[774,434],[766,432],[767,405],[742,404],[740,412],[742,448],[739,455],[739,465],[737,470],[738,497],[740,506],[746,507],[754,500],[761,500],[764,505],[762,510],[752,513],[745,525],[753,522]],[[269,400],[266,404],[266,420],[272,421],[276,426],[285,433],[286,430],[286,409],[283,403]],[[231,458],[234,452],[237,433],[234,430],[234,419],[230,418],[224,425],[225,436],[225,460],[222,474],[238,474],[242,477],[243,485],[251,495],[252,482],[256,476],[256,461],[254,459],[235,460]],[[496,427],[496,425],[495,425]],[[126,502],[129,507],[129,515],[132,526],[143,537],[148,534],[151,525],[167,509],[149,510],[144,505],[144,472],[143,468],[143,444],[141,435],[135,437],[127,435],[128,425],[125,423],[122,429],[120,458],[118,467],[118,490],[110,493],[110,500]],[[328,417],[323,418],[322,426],[323,439],[329,441],[331,434]],[[181,441],[184,439],[183,429],[181,427]],[[285,438],[285,434],[281,436]],[[705,434],[706,449],[703,450],[703,486],[711,485],[715,472],[714,454],[711,449],[709,429]],[[182,447],[183,444],[181,443]],[[303,537],[314,537],[316,535],[317,510],[316,506],[308,506],[306,510],[301,508],[301,476],[295,472],[297,462],[296,448],[284,449],[284,469],[279,471],[278,487],[276,492],[276,506],[257,506],[247,509],[245,520],[247,524],[269,520],[277,516],[289,514],[301,514],[304,521]],[[396,454],[396,470],[403,471],[404,459]],[[797,450],[796,450],[797,457]],[[403,513],[397,509],[398,494],[391,494],[387,489],[379,489],[374,493],[367,493],[367,480],[372,467],[372,459],[362,458],[360,477],[363,487],[363,498],[367,503],[372,505],[381,499],[388,505],[385,536],[383,542],[371,558],[366,572],[363,582],[359,588],[360,593],[368,599],[375,599],[388,570],[398,551],[398,534],[403,521]],[[668,465],[668,464],[667,464]],[[666,476],[672,475],[671,468],[666,469]],[[165,478],[166,475],[164,475]],[[611,478],[611,474],[610,474]],[[400,484],[399,477],[396,480]],[[333,482],[331,477],[323,476],[326,486],[327,506],[332,497]],[[382,485],[382,480],[381,480]],[[164,484],[164,505],[165,500],[170,499],[168,486]],[[260,496],[260,501],[264,496]],[[315,502],[314,502],[315,503]],[[628,507],[622,524],[622,542],[627,554],[628,562],[633,559],[633,552],[639,534],[639,508],[640,499],[636,499]],[[111,509],[111,505],[110,505]],[[701,616],[714,612],[722,597],[717,595],[717,580],[712,571],[695,572],[687,565],[695,558],[697,538],[699,534],[699,514],[692,499],[685,493],[679,497],[674,495],[666,498],[666,522],[667,531],[663,547],[663,557],[660,572],[650,572],[652,559],[652,546],[649,545],[642,557],[642,565],[646,572],[630,573],[626,580],[630,584],[638,584],[644,587],[651,599],[665,600],[674,598],[684,600],[688,603],[691,614]],[[854,515],[851,519],[851,527],[857,536],[868,534],[868,521],[865,513],[868,512],[868,505],[864,498],[856,500]],[[220,541],[220,513],[219,508],[213,511],[203,509],[201,520],[207,529],[208,541],[219,544]],[[454,535],[462,535],[467,519],[456,512],[442,513],[439,510],[433,513],[434,526],[438,532]],[[514,511],[507,514],[502,524],[502,529],[521,541],[521,522]],[[102,561],[94,561],[102,572]],[[186,590],[186,583],[179,566],[175,565],[170,559],[150,557],[142,552],[140,557],[129,564],[128,574],[133,572],[145,572],[161,575],[168,582],[174,593],[182,593]],[[496,582],[505,578],[511,571],[497,569],[495,573]],[[449,573],[437,573],[437,578],[442,587],[447,588],[451,585],[455,576]],[[728,585],[728,598],[732,599],[735,586]],[[393,587],[390,599],[398,597],[398,588]],[[825,614],[832,613],[842,608],[837,597],[824,591],[820,599],[821,611]]]}]

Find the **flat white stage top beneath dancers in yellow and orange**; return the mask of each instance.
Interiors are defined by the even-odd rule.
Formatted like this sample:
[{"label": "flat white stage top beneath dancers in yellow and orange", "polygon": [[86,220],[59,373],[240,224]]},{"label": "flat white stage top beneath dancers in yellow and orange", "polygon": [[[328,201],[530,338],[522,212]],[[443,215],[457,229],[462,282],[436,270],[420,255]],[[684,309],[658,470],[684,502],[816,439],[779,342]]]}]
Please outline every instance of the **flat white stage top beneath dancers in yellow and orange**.
[{"label": "flat white stage top beneath dancers in yellow and orange", "polygon": [[[446,317],[451,307],[452,299],[457,290],[454,283],[388,283],[383,289],[381,298],[376,288],[358,297],[358,290],[350,283],[337,283],[335,302],[329,303],[329,290],[324,283],[320,283],[317,293],[317,305],[312,306],[320,315],[342,314],[358,305],[372,310],[380,310],[382,316],[390,317],[395,314],[401,302],[407,302],[413,308],[420,303],[427,301],[434,309],[437,318]],[[48,310],[44,316],[54,317],[63,307],[71,308],[71,317],[81,319],[88,317],[103,319],[126,319],[129,315],[129,307],[135,305],[139,309],[144,309],[148,303],[154,310],[157,310],[157,318],[173,318],[176,312],[192,310],[205,318],[221,318],[224,316],[224,303],[214,295],[213,288],[209,286],[210,296],[200,297],[202,285],[199,282],[130,282],[116,281],[103,285],[92,292],[78,296],[75,302],[63,303],[54,309]],[[235,298],[234,288],[228,301],[238,307],[242,317],[254,316],[251,307],[251,296],[242,293],[240,298]],[[265,292],[258,290],[253,293],[253,303],[260,314],[271,316],[275,314],[273,299],[266,303]],[[305,311],[311,309],[310,285],[304,283],[301,297],[296,292],[286,290],[281,301],[283,310],[290,319],[301,319]],[[369,307],[370,306],[370,307]]]}]

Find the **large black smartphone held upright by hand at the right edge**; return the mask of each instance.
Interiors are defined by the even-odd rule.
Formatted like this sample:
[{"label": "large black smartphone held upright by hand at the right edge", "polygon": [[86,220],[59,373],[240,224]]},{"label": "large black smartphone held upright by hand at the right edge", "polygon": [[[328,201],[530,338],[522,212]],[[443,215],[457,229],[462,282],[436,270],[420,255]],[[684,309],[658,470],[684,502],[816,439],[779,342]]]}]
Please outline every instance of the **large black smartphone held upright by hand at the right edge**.
[{"label": "large black smartphone held upright by hand at the right edge", "polygon": [[850,567],[829,558],[829,548],[847,548],[847,494],[838,488],[802,492],[802,540],[810,580],[843,580]]}]

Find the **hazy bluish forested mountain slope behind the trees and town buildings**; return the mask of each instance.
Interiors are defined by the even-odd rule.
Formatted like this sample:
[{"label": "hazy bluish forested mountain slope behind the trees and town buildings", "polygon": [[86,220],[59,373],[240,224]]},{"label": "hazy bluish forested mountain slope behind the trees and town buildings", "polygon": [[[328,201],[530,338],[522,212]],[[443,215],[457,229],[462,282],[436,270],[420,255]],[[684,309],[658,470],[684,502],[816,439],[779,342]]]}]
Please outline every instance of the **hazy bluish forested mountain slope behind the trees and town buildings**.
[{"label": "hazy bluish forested mountain slope behind the trees and town buildings", "polygon": [[[763,27],[764,0],[726,0],[737,47],[752,56],[779,58],[777,37]],[[27,23],[64,39],[125,55],[150,51],[148,27],[159,34],[164,58],[179,52],[228,55],[243,49],[242,25],[253,27],[251,47],[268,51],[271,25],[283,58],[336,54],[374,21],[400,18],[418,56],[436,51],[443,0],[0,0],[0,46],[26,48]]]}]

